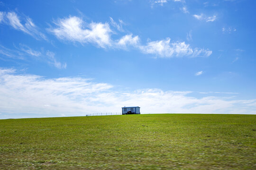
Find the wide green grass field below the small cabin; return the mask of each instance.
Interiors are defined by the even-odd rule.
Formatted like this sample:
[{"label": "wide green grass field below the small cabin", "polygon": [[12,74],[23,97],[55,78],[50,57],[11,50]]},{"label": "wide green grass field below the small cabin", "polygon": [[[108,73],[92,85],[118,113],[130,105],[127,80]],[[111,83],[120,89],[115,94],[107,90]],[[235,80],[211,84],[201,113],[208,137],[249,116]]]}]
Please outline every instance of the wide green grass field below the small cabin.
[{"label": "wide green grass field below the small cabin", "polygon": [[4,119],[0,169],[256,170],[256,115]]}]

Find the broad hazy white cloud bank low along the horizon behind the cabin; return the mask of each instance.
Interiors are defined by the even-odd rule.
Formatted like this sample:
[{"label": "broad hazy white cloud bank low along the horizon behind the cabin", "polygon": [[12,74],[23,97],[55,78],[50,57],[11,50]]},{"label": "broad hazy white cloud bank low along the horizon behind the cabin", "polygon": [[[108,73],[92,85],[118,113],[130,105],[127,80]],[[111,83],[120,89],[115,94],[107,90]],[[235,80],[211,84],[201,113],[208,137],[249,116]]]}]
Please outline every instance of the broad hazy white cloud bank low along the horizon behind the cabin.
[{"label": "broad hazy white cloud bank low along the horizon behind the cabin", "polygon": [[161,89],[114,91],[112,85],[81,77],[44,78],[17,74],[13,69],[0,69],[0,93],[0,112],[9,117],[14,113],[54,117],[120,112],[125,105],[138,105],[141,113],[256,114],[256,99],[197,98],[191,92]]}]

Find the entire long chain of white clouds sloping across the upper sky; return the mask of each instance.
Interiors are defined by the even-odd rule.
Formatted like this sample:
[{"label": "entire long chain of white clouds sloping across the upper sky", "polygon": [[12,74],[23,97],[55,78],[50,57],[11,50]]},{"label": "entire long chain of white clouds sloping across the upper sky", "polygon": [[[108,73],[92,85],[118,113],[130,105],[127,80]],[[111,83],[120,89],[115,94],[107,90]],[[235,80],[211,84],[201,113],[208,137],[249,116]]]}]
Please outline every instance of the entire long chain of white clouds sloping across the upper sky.
[{"label": "entire long chain of white clouds sloping across the upper sky", "polygon": [[[113,25],[113,24],[112,24]],[[192,49],[190,44],[185,42],[170,42],[170,38],[160,41],[147,42],[146,45],[140,43],[139,36],[126,34],[119,39],[112,39],[113,31],[108,23],[85,23],[82,18],[68,17],[58,19],[55,22],[56,28],[49,30],[60,40],[80,43],[92,43],[100,48],[128,49],[132,47],[146,54],[155,54],[159,57],[208,57],[212,51],[200,48]]]}]

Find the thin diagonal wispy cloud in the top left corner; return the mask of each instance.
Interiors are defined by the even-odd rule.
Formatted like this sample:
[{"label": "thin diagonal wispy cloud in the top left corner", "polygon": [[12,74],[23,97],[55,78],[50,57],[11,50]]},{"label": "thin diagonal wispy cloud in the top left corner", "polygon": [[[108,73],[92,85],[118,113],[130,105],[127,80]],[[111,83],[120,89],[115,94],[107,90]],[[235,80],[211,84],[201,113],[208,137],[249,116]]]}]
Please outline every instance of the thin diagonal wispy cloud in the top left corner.
[{"label": "thin diagonal wispy cloud in the top left corner", "polygon": [[[22,24],[22,22],[24,24]],[[0,23],[12,26],[14,29],[29,34],[37,40],[47,40],[46,35],[38,30],[38,27],[29,17],[20,19],[20,17],[15,12],[0,12]]]}]

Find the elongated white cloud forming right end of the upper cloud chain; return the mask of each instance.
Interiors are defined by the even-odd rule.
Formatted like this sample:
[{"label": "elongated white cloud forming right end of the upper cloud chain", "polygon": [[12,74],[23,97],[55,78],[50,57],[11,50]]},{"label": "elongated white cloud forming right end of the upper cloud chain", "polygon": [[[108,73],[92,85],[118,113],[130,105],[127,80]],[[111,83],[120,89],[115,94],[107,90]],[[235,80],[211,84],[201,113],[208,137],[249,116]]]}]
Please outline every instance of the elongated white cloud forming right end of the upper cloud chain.
[{"label": "elongated white cloud forming right end of the upper cloud chain", "polygon": [[148,42],[146,46],[140,46],[142,52],[155,54],[160,57],[208,57],[212,51],[204,49],[192,49],[185,42],[170,42],[170,38],[161,41]]}]

